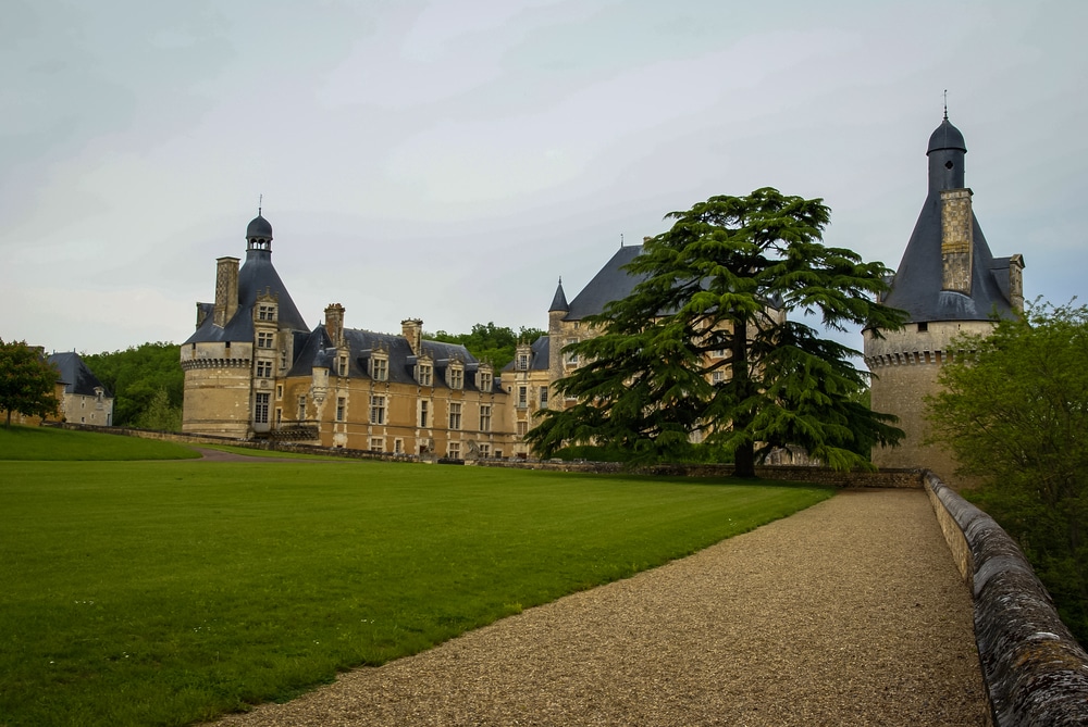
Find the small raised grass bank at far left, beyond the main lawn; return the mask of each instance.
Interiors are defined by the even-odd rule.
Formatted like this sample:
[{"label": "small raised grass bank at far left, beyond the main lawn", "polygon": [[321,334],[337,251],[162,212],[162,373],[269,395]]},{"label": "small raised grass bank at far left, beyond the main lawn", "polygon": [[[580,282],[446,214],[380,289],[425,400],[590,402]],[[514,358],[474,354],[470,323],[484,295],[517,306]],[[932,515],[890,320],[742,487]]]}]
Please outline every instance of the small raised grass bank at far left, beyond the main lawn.
[{"label": "small raised grass bank at far left, beyond the main lawn", "polygon": [[0,460],[185,460],[200,454],[174,442],[52,427],[0,427]]}]

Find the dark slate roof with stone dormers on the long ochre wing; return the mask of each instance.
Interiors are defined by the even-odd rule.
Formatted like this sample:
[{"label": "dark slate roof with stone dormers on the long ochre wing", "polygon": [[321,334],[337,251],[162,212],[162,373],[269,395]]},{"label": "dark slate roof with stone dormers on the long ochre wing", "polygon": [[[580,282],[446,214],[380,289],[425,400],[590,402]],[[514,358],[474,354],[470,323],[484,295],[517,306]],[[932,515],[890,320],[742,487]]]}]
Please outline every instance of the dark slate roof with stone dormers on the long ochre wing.
[{"label": "dark slate roof with stone dormers on the long ochre wing", "polygon": [[[370,378],[368,364],[370,354],[374,349],[383,348],[388,351],[390,355],[388,381],[395,384],[416,383],[413,368],[418,356],[412,353],[408,339],[404,336],[345,328],[344,340],[350,349],[348,355],[349,378]],[[480,367],[480,362],[469,353],[467,348],[457,343],[424,340],[422,350],[431,356],[434,363],[434,388],[448,388],[446,367],[454,359],[460,359],[465,363],[465,390],[477,390],[474,374]],[[295,362],[290,371],[287,372],[287,376],[310,376],[314,367],[329,368],[333,372],[336,368],[336,348],[333,346],[324,324],[319,325],[309,336],[306,336],[301,346],[296,342],[295,351]],[[492,392],[503,392],[498,384],[496,376]]]}]

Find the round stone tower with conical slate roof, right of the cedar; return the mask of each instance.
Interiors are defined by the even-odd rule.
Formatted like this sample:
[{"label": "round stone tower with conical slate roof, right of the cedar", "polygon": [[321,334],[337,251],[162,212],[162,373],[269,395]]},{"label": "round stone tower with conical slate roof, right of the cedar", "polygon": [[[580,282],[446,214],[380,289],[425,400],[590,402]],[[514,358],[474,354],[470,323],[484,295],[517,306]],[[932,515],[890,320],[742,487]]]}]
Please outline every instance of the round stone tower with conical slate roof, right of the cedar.
[{"label": "round stone tower with conical slate roof, right of the cedar", "polygon": [[880,467],[925,467],[955,481],[955,462],[926,443],[927,396],[940,390],[940,366],[962,355],[953,339],[986,334],[992,313],[1010,317],[1023,304],[1019,255],[994,259],[964,187],[963,134],[945,114],[929,137],[929,190],[906,251],[881,302],[906,311],[901,330],[863,331],[873,373],[874,411],[894,414],[906,437],[898,448],[877,448]]}]

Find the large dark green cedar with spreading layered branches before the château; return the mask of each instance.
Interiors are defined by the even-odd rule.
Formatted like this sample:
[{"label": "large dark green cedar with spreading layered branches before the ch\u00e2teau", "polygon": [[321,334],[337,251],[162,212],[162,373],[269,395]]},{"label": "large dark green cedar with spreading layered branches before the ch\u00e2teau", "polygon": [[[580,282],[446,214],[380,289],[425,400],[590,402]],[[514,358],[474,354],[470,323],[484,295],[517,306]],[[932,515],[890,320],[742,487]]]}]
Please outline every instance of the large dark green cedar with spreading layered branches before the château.
[{"label": "large dark green cedar with spreading layered branches before the ch\u00e2teau", "polygon": [[568,347],[589,362],[556,385],[577,404],[543,413],[528,436],[536,452],[592,441],[633,461],[677,459],[702,433],[702,447],[751,477],[776,447],[846,468],[866,464],[867,443],[895,443],[893,417],[858,401],[858,352],[787,318],[901,325],[899,311],[874,302],[890,271],[823,243],[829,214],[819,199],[763,188],[667,215],[672,228],[627,266],[641,280],[632,293],[589,318],[599,336]]}]

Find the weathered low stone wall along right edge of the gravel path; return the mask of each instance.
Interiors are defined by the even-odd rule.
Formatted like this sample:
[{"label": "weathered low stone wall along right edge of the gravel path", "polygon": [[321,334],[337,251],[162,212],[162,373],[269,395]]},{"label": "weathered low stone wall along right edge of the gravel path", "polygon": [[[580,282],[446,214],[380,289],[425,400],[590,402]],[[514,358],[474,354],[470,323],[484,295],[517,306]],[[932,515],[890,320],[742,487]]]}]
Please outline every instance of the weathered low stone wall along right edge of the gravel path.
[{"label": "weathered low stone wall along right edge of the gravel path", "polygon": [[936,475],[925,477],[975,601],[975,640],[998,727],[1088,724],[1088,652],[1013,539]]}]

